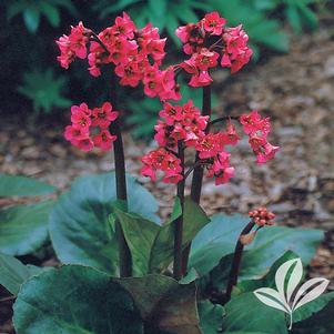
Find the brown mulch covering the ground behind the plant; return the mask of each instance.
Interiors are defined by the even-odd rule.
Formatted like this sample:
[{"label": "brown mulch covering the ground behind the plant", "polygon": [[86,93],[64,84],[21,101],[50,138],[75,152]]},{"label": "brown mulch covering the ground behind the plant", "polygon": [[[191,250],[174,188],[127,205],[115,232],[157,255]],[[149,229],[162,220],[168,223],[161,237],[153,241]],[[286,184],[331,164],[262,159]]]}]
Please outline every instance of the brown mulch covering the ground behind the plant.
[{"label": "brown mulch covering the ground behind the plant", "polygon": [[[216,80],[220,102],[215,113],[240,114],[257,109],[271,115],[271,142],[282,150],[270,163],[257,165],[246,141],[242,141],[232,151],[236,176],[219,188],[205,181],[202,206],[209,213],[246,213],[253,206],[267,204],[277,214],[279,224],[325,230],[310,276],[333,281],[334,26],[295,39],[289,54],[272,57],[232,79],[219,72]],[[62,130],[51,123],[34,129],[10,118],[10,122],[2,121],[0,129],[1,172],[31,175],[65,189],[78,175],[105,172],[112,166],[110,154],[83,154],[70,148],[61,138]],[[125,146],[128,170],[138,174],[140,156],[148,146],[134,142],[130,134]],[[166,215],[174,188],[139,180],[154,193],[162,215]],[[4,296],[0,291],[0,300]],[[10,303],[2,302],[0,307],[0,334],[12,333],[10,322],[4,321],[11,315]]]}]

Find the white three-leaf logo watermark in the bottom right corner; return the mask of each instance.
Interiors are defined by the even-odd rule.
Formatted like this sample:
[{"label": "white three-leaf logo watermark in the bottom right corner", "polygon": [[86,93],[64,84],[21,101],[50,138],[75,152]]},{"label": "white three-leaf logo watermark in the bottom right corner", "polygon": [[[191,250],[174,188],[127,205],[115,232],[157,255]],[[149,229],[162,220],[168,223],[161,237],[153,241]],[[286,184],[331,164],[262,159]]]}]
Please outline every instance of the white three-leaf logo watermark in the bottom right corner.
[{"label": "white three-leaf logo watermark in the bottom right corner", "polygon": [[325,292],[330,281],[326,279],[311,279],[298,289],[303,277],[301,259],[293,259],[283,263],[275,274],[276,290],[261,287],[254,291],[255,296],[265,305],[289,314],[292,328],[293,312],[314,301]]}]

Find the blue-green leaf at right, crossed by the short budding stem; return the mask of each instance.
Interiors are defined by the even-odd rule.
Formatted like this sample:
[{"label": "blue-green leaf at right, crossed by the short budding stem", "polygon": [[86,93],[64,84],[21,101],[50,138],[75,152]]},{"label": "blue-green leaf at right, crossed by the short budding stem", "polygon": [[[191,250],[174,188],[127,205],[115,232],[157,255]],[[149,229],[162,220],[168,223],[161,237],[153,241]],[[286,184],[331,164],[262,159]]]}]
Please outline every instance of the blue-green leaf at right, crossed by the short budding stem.
[{"label": "blue-green leaf at right, crossed by the short budding stem", "polygon": [[[213,215],[211,223],[200,231],[192,243],[189,269],[194,267],[200,275],[209,273],[222,257],[234,252],[237,237],[247,222],[249,217],[242,215]],[[263,275],[277,259],[277,254],[289,250],[298,254],[305,264],[310,263],[323,235],[322,231],[313,229],[262,229],[254,242],[245,247],[240,279]],[[231,261],[231,255],[229,256]],[[222,263],[229,262],[222,259]]]}]

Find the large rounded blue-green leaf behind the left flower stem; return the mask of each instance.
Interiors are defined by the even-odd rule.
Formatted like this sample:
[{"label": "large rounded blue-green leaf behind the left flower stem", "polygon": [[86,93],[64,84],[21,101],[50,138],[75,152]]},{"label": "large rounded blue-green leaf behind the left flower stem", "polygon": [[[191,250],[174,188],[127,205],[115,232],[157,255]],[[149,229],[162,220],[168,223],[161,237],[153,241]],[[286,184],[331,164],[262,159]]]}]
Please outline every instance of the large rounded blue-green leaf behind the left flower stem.
[{"label": "large rounded blue-green leaf behind the left flower stem", "polygon": [[[156,201],[132,178],[128,178],[128,193],[129,211],[158,221]],[[114,173],[81,176],[60,196],[51,213],[50,234],[63,263],[118,272],[118,244],[108,220],[115,200]]]}]

